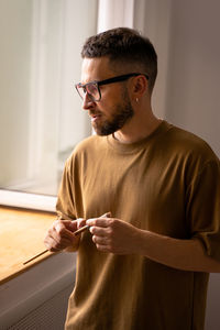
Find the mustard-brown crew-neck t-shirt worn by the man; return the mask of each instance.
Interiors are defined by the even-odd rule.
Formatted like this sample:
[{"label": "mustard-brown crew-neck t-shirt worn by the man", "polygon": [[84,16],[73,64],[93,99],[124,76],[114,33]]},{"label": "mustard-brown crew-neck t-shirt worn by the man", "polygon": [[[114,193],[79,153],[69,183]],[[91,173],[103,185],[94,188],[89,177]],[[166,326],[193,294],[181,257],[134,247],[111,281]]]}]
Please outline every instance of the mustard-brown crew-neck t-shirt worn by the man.
[{"label": "mustard-brown crew-neck t-shirt worn by the man", "polygon": [[[91,136],[67,160],[59,216],[112,217],[172,238],[198,238],[220,261],[220,164],[201,139],[166,121],[121,144]],[[201,330],[208,274],[141,255],[98,252],[81,237],[67,330]]]}]

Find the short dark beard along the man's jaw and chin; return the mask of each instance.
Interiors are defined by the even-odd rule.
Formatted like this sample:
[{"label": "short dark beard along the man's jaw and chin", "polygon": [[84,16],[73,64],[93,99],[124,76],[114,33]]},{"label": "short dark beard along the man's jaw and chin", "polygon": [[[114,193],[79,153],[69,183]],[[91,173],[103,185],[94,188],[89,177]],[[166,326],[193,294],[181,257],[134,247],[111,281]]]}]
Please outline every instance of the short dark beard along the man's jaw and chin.
[{"label": "short dark beard along the man's jaw and chin", "polygon": [[[134,110],[129,99],[128,92],[124,90],[123,97],[124,102],[114,107],[114,112],[111,119],[102,120],[100,123],[92,123],[92,127],[98,135],[113,134],[133,117]],[[100,116],[102,116],[100,113]]]}]

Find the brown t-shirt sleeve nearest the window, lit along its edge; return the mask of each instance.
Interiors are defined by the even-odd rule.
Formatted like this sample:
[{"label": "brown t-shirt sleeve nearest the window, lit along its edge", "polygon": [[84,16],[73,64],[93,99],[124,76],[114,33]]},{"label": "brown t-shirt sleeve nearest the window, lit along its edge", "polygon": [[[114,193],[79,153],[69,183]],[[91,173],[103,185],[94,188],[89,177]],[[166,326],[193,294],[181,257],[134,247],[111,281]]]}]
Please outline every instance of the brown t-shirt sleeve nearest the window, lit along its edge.
[{"label": "brown t-shirt sleeve nearest the window, lit along its edge", "polygon": [[70,160],[67,160],[58,190],[56,212],[58,219],[76,219],[73,178],[70,174]]}]

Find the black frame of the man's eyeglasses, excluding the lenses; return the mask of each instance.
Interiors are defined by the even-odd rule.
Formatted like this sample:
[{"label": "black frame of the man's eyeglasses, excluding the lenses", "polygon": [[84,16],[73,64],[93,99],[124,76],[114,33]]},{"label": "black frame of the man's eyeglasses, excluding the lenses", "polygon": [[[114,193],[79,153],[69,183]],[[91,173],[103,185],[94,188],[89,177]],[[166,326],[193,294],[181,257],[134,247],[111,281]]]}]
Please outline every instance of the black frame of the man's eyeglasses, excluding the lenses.
[{"label": "black frame of the man's eyeglasses, excluding the lenses", "polygon": [[[89,81],[85,85],[82,85],[81,82],[79,84],[76,84],[75,87],[76,87],[76,90],[78,92],[78,95],[80,96],[80,98],[84,100],[84,97],[80,95],[80,91],[79,91],[79,88],[82,88],[84,91],[86,91],[89,96],[89,98],[91,99],[91,101],[94,102],[98,102],[101,100],[101,91],[100,91],[100,88],[99,86],[102,86],[102,85],[108,85],[108,84],[113,84],[113,82],[119,82],[119,81],[124,81],[131,77],[136,77],[136,76],[145,76],[145,78],[148,80],[148,75],[146,74],[138,74],[138,73],[132,73],[132,74],[127,74],[127,75],[122,75],[122,76],[117,76],[117,77],[112,77],[112,78],[109,78],[109,79],[105,79],[105,80],[100,80],[100,81],[97,81],[97,80],[94,80],[94,81]],[[89,90],[87,89],[87,86],[89,85],[96,85],[97,86],[97,90],[99,92],[99,98],[95,99],[92,97],[92,95],[89,92]],[[86,94],[85,92],[85,94]]]}]

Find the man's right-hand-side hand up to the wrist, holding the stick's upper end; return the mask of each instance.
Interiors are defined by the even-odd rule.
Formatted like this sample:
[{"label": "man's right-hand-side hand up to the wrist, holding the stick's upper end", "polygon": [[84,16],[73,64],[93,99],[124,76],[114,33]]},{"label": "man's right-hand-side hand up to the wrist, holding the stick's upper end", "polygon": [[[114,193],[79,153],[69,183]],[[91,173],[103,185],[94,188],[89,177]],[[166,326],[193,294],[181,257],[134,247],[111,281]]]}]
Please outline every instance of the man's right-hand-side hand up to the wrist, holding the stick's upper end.
[{"label": "man's right-hand-side hand up to the wrist, holding the stick's upper end", "polygon": [[97,218],[86,221],[90,226],[92,241],[102,252],[133,254],[139,242],[140,230],[134,226],[114,218]]}]

